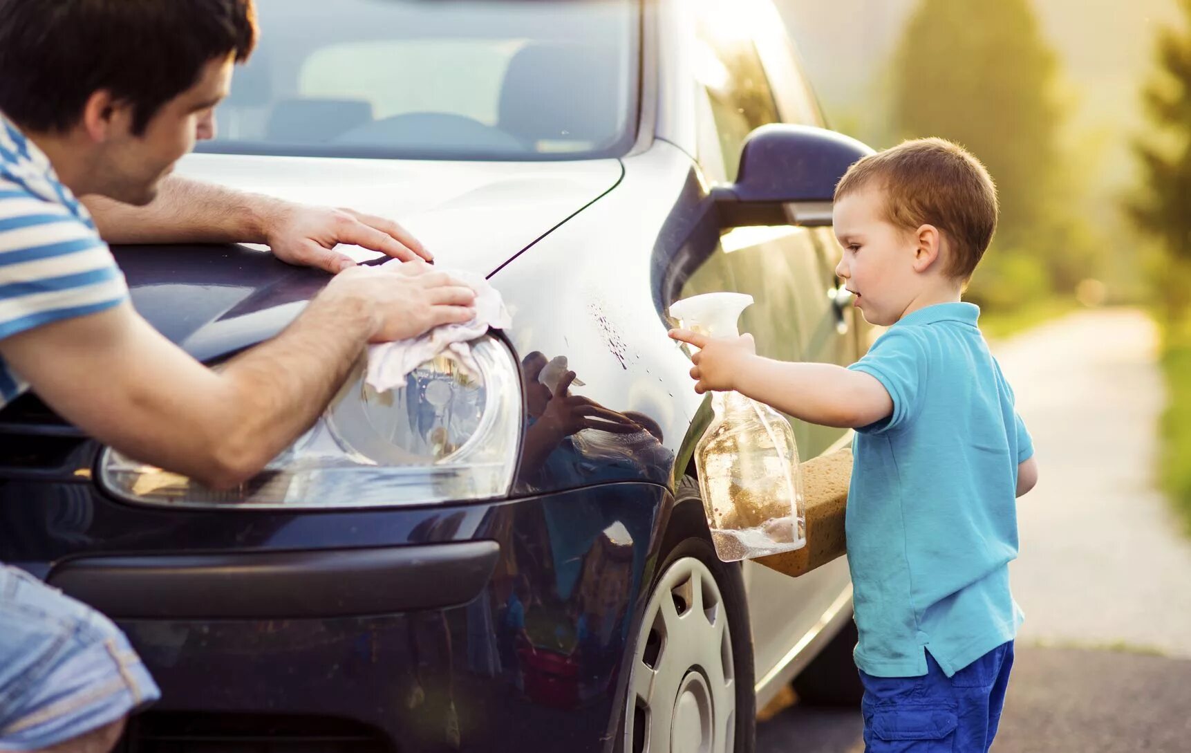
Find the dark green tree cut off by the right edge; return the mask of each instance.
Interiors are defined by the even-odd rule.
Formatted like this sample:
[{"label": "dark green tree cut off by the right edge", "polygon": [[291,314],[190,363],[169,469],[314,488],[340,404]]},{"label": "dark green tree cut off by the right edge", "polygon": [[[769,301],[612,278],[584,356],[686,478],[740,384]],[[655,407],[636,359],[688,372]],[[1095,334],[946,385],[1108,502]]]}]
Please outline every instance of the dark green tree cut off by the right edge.
[{"label": "dark green tree cut off by the right edge", "polygon": [[1142,92],[1155,132],[1134,144],[1143,185],[1128,204],[1161,245],[1155,285],[1172,322],[1191,306],[1191,0],[1177,1],[1185,24],[1158,35],[1156,70]]}]

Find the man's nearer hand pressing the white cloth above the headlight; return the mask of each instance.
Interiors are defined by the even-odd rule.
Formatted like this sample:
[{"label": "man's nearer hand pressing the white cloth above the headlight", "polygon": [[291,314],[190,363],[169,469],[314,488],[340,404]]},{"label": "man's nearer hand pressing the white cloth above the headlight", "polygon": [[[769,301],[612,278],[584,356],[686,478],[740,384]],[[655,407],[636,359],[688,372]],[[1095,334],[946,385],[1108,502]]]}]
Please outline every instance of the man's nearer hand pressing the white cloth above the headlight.
[{"label": "man's nearer hand pressing the white cloth above the headlight", "polygon": [[372,312],[369,342],[417,337],[441,324],[463,324],[475,317],[475,291],[423,261],[384,269],[353,265],[316,300],[343,299]]}]

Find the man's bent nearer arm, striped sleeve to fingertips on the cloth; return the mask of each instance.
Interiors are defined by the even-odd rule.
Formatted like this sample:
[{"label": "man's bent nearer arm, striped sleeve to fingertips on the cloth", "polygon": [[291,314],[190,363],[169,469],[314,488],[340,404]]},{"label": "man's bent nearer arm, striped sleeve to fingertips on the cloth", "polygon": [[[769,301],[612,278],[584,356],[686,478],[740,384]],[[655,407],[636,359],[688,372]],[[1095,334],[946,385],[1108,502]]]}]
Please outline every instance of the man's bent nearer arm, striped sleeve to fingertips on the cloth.
[{"label": "man's bent nearer arm, striped sleeve to fingertips on the cloth", "polygon": [[474,316],[443,273],[361,267],[338,275],[281,335],[213,372],[129,303],[0,341],[51,407],[138,460],[227,488],[310,428],[369,341]]}]

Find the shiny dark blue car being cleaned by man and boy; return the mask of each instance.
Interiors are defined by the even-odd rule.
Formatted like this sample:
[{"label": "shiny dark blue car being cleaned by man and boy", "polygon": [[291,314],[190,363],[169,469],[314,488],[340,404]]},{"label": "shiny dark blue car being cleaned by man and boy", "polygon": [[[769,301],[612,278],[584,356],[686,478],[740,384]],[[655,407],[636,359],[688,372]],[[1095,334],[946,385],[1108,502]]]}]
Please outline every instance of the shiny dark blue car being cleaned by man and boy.
[{"label": "shiny dark blue car being cleaned by man and boy", "polygon": [[[257,7],[179,174],[394,217],[512,325],[398,390],[361,363],[230,492],[36,396],[0,413],[0,560],[114,618],[163,690],[126,749],[747,753],[791,682],[855,703],[847,560],[719,561],[709,402],[667,338],[673,301],[735,291],[763,355],[871,342],[830,228],[868,150],[824,127],[769,0]],[[329,280],[245,245],[113,251],[137,310],[216,367]],[[803,460],[850,441],[793,425]]]}]

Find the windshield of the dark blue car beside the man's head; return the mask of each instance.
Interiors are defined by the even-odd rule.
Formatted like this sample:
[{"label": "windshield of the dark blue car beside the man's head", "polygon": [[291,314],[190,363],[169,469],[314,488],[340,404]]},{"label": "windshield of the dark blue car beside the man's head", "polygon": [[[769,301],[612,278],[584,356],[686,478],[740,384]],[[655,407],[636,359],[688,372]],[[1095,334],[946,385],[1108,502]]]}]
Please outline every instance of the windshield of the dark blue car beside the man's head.
[{"label": "windshield of the dark blue car beside the man's head", "polygon": [[257,0],[199,151],[460,160],[631,147],[637,0]]}]

